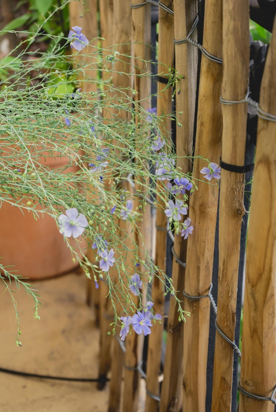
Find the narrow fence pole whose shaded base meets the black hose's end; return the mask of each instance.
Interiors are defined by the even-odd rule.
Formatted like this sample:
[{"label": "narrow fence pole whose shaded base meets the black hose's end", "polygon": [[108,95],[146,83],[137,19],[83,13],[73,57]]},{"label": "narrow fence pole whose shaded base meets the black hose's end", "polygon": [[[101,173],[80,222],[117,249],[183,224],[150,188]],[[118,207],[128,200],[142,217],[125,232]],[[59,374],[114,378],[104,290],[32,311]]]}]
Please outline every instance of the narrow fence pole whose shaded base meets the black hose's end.
[{"label": "narrow fence pole whose shaded base meets the black hose's end", "polygon": [[[108,54],[108,47],[113,45],[113,0],[100,0],[100,36],[102,37],[103,54]],[[102,77],[107,80],[110,77],[110,72],[103,71]],[[110,117],[105,111],[104,117]],[[111,185],[106,183],[108,188]],[[114,319],[111,312],[111,301],[107,297],[108,285],[100,282],[100,361],[99,361],[99,383],[98,389],[104,389],[106,376],[111,367],[111,321]],[[112,319],[113,318],[113,319]]]}]

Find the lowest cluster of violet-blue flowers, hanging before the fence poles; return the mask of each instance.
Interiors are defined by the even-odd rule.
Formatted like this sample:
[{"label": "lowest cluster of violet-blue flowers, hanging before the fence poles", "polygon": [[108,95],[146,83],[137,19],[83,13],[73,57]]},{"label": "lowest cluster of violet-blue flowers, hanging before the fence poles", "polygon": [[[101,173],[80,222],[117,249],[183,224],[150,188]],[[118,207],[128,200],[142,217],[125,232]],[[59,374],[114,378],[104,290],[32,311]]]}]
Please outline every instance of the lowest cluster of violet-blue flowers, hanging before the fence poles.
[{"label": "lowest cluster of violet-blue flowers, hanging before the fence poles", "polygon": [[155,319],[157,321],[162,320],[161,314],[152,314],[151,309],[153,305],[153,302],[148,301],[146,304],[146,308],[143,309],[141,312],[138,311],[137,313],[135,313],[133,317],[123,316],[120,318],[122,321],[122,326],[119,332],[119,336],[122,339],[122,341],[126,339],[126,336],[130,330],[130,326],[133,327],[133,330],[137,334],[143,333],[144,336],[150,334],[150,328],[152,328],[152,319]]}]

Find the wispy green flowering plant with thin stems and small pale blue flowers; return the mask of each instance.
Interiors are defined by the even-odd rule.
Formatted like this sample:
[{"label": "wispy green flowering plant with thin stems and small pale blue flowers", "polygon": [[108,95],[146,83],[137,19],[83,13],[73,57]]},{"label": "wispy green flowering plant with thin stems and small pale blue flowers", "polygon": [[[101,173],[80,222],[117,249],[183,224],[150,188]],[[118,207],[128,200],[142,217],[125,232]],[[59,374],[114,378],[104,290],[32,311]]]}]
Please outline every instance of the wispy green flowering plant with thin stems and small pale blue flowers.
[{"label": "wispy green flowering plant with thin stems and small pale blue flowers", "polygon": [[[93,279],[96,288],[98,282],[108,284],[113,332],[119,324],[122,339],[130,325],[138,334],[148,334],[152,321],[160,320],[161,315],[153,316],[151,301],[142,305],[141,285],[148,288],[154,276],[161,278],[165,294],[172,293],[180,320],[185,319],[185,312],[172,280],[154,265],[147,251],[139,249],[129,229],[119,227],[118,220],[126,220],[128,228],[141,236],[143,208],[148,202],[157,206],[162,201],[171,227],[186,238],[192,234],[192,227],[190,221],[180,220],[181,214],[187,214],[185,190],[192,188],[192,182],[175,167],[176,155],[162,133],[165,115],[157,117],[153,109],[143,110],[141,102],[133,100],[135,91],[114,89],[112,80],[106,84],[97,77],[93,80],[97,89],[94,93],[82,91],[85,82],[92,81],[87,74],[91,70],[112,73],[111,62],[121,58],[117,52],[103,53],[100,47],[87,46],[80,27],[73,27],[69,38],[48,34],[51,42],[47,52],[32,50],[41,36],[41,27],[47,27],[53,14],[38,30],[29,33],[16,49],[16,57],[10,54],[1,62],[0,201],[19,207],[23,213],[30,211],[36,219],[48,214],[56,220],[56,230],[64,236],[72,260]],[[76,52],[65,53],[69,44],[82,49],[78,61],[83,56],[85,63],[77,66]],[[126,57],[131,64],[130,56]],[[84,79],[81,85],[80,78]],[[122,119],[122,113],[128,120]],[[67,157],[69,162],[53,170],[43,162],[47,157]],[[69,171],[72,165],[78,167],[77,172]],[[139,182],[136,192],[135,181]],[[168,181],[174,181],[174,185]],[[157,184],[162,185],[161,191],[157,191]],[[176,199],[174,203],[172,195],[178,194],[184,200]],[[69,242],[71,236],[78,242],[76,249]],[[78,241],[80,236],[85,236],[87,249],[95,249],[99,265],[87,259]],[[1,268],[0,278],[12,295],[18,322],[9,286],[12,279],[32,295],[35,317],[39,319],[34,286],[24,283],[12,268]],[[118,302],[123,308],[119,312]],[[17,345],[21,345],[19,334],[20,323]]]}]

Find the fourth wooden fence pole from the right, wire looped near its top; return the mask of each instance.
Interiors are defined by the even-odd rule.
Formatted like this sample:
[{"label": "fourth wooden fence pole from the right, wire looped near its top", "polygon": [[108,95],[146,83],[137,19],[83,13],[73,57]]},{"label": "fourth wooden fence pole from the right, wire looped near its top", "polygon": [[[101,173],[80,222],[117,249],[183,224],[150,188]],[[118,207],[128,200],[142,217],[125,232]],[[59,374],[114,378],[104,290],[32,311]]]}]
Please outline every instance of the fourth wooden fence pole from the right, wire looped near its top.
[{"label": "fourth wooden fence pole from the right, wire looped near its top", "polygon": [[[183,16],[185,16],[183,18]],[[174,35],[176,39],[186,38],[190,27],[197,16],[197,2],[194,0],[182,1],[174,0]],[[196,31],[194,32],[196,38]],[[194,106],[196,104],[196,63],[197,54],[189,55],[194,60],[194,68],[188,70],[188,47],[191,52],[197,52],[195,47],[189,43],[182,43],[175,47],[176,71],[181,76],[177,85],[180,93],[176,93],[176,119],[182,127],[176,128],[176,154],[178,155],[177,165],[183,173],[191,171],[191,163],[187,158],[181,157],[192,155],[189,148],[194,136]],[[191,62],[192,65],[192,62]],[[194,91],[194,93],[193,93]],[[174,236],[174,250],[182,262],[186,262],[187,240],[181,236]],[[183,300],[182,291],[184,288],[185,270],[174,260],[172,264],[172,281],[174,288],[179,290],[179,298]],[[179,323],[179,312],[172,298],[168,317],[168,335],[165,352],[164,378],[161,391],[160,411],[181,411],[182,409],[182,378],[183,363],[179,359],[183,358],[183,323]]]}]

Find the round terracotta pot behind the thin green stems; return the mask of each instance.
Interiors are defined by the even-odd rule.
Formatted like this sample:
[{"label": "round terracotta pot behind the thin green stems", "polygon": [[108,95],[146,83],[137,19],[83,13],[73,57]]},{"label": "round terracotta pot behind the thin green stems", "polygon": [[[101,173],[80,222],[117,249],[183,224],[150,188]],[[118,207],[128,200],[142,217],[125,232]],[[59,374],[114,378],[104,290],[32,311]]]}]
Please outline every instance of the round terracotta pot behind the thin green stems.
[{"label": "round terracotta pot behind the thin green stems", "polygon": [[[69,158],[43,158],[43,164],[50,169],[62,168],[69,163]],[[73,165],[67,172],[78,171]],[[18,207],[3,203],[0,209],[0,257],[4,266],[13,265],[11,271],[16,274],[43,279],[69,272],[78,266],[74,263],[71,251],[64,237],[58,231],[56,222],[47,214],[35,220],[32,212],[24,215]],[[78,250],[76,240],[71,239],[71,246]],[[81,238],[81,247],[87,242]]]}]

